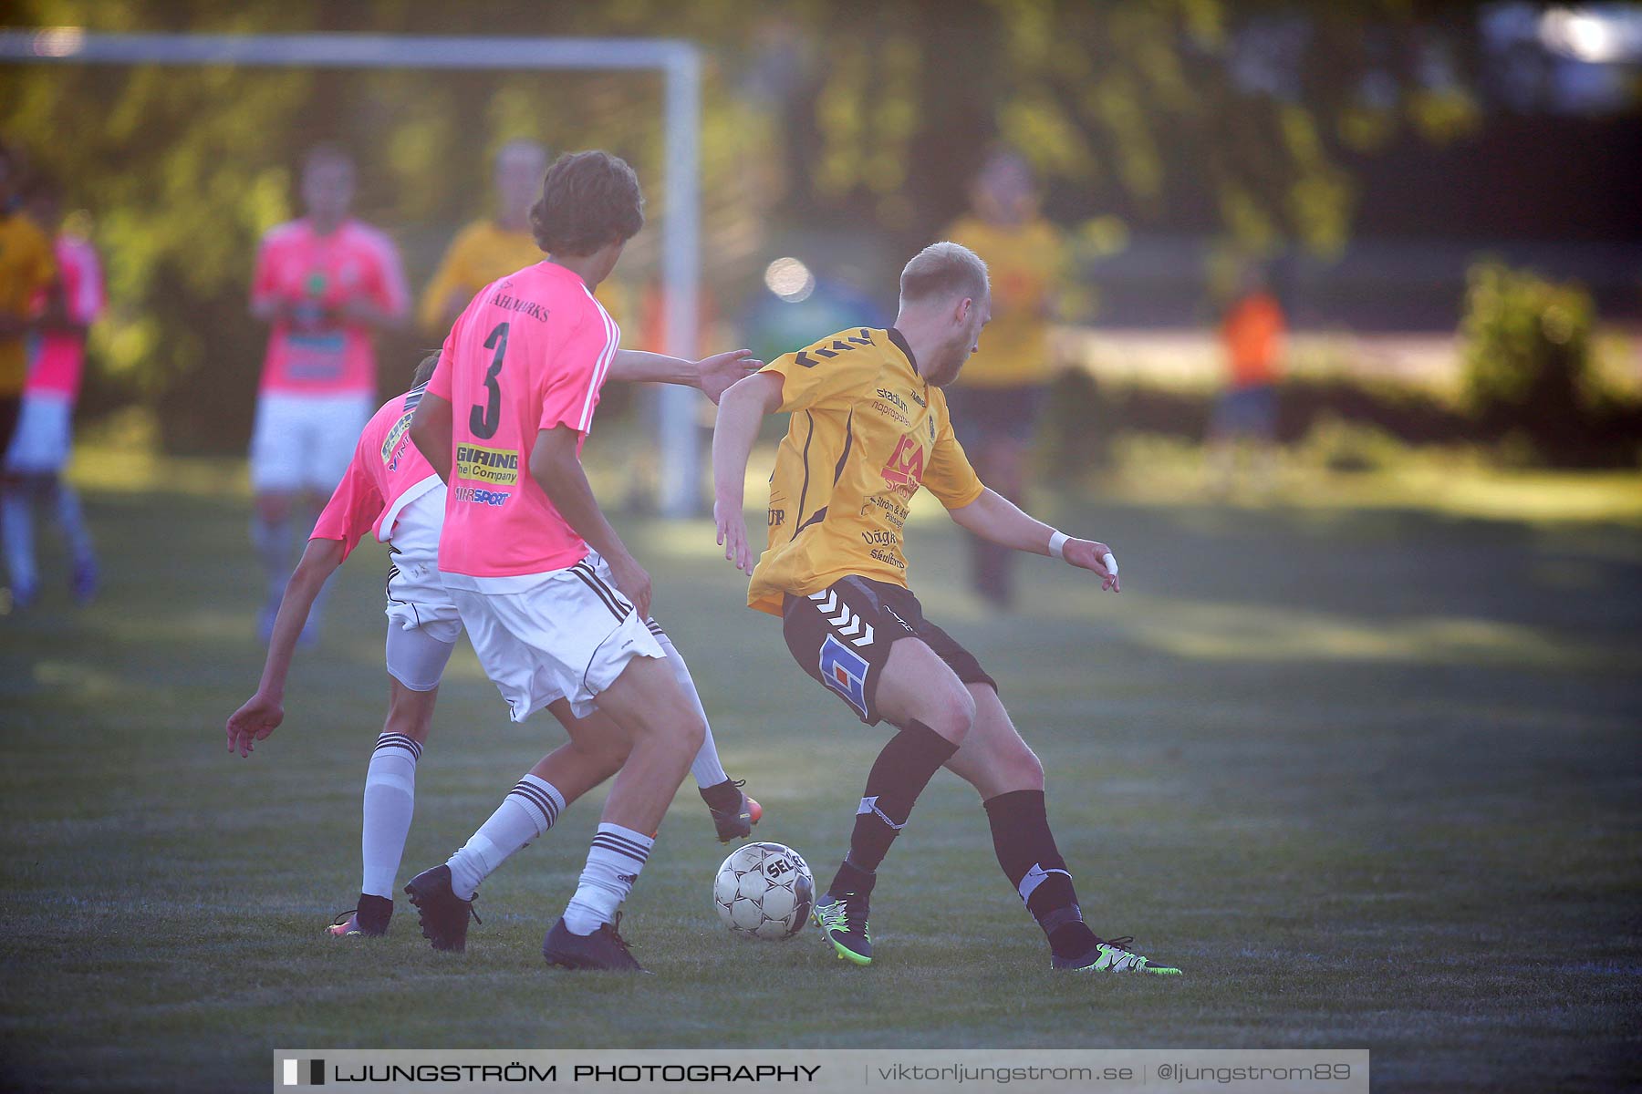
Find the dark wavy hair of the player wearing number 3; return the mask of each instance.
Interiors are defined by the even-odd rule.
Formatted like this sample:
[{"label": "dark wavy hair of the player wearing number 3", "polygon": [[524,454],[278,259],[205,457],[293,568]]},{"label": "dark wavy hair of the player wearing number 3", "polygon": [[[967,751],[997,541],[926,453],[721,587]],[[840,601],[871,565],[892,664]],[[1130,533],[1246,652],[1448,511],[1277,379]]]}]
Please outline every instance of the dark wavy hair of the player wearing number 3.
[{"label": "dark wavy hair of the player wearing number 3", "polygon": [[626,243],[644,226],[639,175],[609,153],[565,153],[542,179],[530,207],[535,244],[548,254],[593,254]]}]

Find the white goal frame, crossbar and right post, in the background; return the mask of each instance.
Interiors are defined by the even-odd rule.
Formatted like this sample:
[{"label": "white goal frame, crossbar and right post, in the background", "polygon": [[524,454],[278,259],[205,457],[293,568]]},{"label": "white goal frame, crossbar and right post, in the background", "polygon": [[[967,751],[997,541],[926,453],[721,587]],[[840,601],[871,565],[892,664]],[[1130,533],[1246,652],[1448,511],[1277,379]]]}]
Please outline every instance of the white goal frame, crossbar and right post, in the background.
[{"label": "white goal frame, crossbar and right post, in the background", "polygon": [[[696,356],[701,271],[701,54],[660,38],[437,34],[99,34],[72,26],[0,31],[7,64],[179,64],[312,69],[645,71],[665,79],[662,289],[667,351]],[[662,512],[699,508],[696,395],[662,385]]]}]

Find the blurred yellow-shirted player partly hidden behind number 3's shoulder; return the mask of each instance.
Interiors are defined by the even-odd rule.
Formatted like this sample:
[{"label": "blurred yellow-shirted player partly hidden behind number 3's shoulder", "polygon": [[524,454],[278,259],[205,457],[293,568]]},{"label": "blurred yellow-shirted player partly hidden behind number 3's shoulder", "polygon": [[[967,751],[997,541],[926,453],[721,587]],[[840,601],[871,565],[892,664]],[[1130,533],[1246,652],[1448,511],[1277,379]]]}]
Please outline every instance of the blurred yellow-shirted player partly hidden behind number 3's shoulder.
[{"label": "blurred yellow-shirted player partly hidden behind number 3's shoulder", "polygon": [[440,340],[468,300],[504,274],[542,261],[530,235],[530,205],[547,174],[547,149],[535,141],[507,141],[496,153],[496,215],[456,233],[422,290],[417,323]]}]

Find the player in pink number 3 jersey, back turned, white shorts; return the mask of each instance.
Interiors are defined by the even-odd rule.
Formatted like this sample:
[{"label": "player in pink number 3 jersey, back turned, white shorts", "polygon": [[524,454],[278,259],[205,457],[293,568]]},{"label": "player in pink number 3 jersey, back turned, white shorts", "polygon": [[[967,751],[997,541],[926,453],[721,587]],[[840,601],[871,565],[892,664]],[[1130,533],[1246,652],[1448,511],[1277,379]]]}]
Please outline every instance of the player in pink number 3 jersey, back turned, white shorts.
[{"label": "player in pink number 3 jersey, back turned, white shorts", "polygon": [[[637,971],[617,907],[706,718],[650,630],[650,577],[599,512],[580,453],[608,379],[675,379],[678,362],[621,353],[621,331],[593,297],[644,225],[626,162],[560,156],[530,223],[548,258],[484,287],[456,318],[410,436],[448,484],[445,587],[514,720],[563,695],[578,717],[599,712],[631,741],[542,953],[566,968]],[[406,891],[433,945],[460,945],[471,904],[453,891],[450,864]]]}]

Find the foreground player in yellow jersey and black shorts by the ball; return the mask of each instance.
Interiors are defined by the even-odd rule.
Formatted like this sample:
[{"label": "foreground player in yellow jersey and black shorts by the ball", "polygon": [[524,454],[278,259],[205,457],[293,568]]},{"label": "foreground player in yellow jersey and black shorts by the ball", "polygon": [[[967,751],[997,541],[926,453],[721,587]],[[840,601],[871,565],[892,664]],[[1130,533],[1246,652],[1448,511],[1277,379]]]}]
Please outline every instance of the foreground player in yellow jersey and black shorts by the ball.
[{"label": "foreground player in yellow jersey and black shorts by the ball", "polygon": [[[975,477],[943,389],[992,312],[987,266],[957,243],[901,271],[895,326],[852,328],[731,387],[713,435],[714,515],[724,554],[752,574],[747,604],[780,615],[787,648],[855,715],[897,727],[867,774],[849,853],[814,920],[839,958],[872,963],[867,909],[918,794],[947,768],[980,792],[998,864],[1049,940],[1051,964],[1179,973],[1085,923],[1044,812],[1043,764],[998,700],[997,682],[924,618],[906,586],[906,505],[920,487],[962,528],[1053,554],[1117,592],[1107,545],[1039,523]],[[764,415],[791,420],[770,479],[768,546],[752,566],[742,517],[747,458]]]}]

